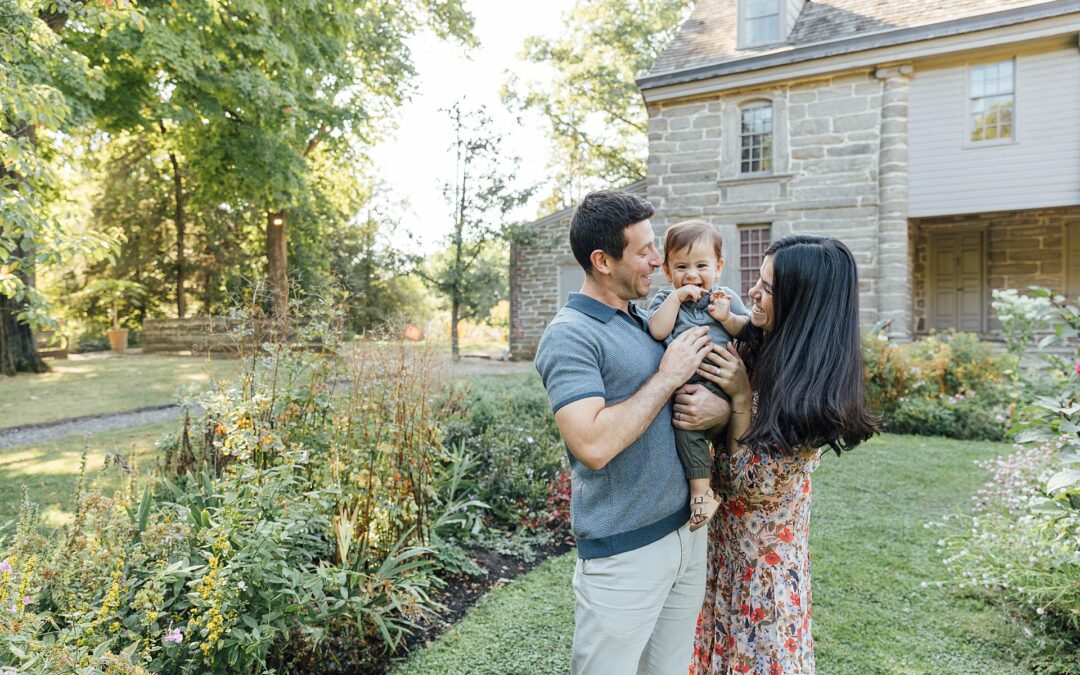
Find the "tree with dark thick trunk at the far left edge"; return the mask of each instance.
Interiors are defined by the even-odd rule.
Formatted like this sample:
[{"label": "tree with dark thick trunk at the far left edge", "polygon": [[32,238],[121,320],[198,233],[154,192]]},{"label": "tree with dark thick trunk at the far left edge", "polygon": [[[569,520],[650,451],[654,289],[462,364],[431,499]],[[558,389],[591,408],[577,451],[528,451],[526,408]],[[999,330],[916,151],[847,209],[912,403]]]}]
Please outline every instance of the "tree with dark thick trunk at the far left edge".
[{"label": "tree with dark thick trunk at the far left edge", "polygon": [[[109,3],[111,4],[111,3]],[[46,369],[31,327],[49,325],[48,302],[36,288],[36,268],[73,255],[102,257],[107,233],[76,231],[56,217],[63,199],[43,140],[84,119],[99,94],[86,59],[60,36],[72,14],[94,26],[102,13],[83,1],[0,0],[0,373]]]}]

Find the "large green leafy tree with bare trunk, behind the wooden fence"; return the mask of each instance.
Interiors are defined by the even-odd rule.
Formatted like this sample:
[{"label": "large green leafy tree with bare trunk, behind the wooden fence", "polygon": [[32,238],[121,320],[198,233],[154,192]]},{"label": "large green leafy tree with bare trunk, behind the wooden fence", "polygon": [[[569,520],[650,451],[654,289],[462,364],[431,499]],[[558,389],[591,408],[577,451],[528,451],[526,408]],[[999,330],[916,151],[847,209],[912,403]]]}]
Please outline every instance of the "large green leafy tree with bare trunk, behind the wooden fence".
[{"label": "large green leafy tree with bare trunk, behind the wooden fence", "polygon": [[186,180],[178,224],[180,195],[190,207],[202,199],[261,214],[284,314],[291,214],[310,206],[314,153],[376,139],[409,91],[408,38],[427,28],[470,44],[472,17],[460,0],[148,0],[140,11],[143,29],[85,43],[108,80],[102,114],[171,139],[173,177],[183,166]]}]

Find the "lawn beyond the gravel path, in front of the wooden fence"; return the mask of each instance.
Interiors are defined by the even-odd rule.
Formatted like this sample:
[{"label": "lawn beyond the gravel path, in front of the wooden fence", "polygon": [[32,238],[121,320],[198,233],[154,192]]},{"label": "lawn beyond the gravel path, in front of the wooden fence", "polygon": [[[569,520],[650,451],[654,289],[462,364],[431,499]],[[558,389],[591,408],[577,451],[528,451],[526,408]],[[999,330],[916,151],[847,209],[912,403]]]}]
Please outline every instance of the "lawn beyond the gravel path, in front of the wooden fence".
[{"label": "lawn beyond the gravel path, in front of the wooden fence", "polygon": [[173,403],[179,391],[234,374],[240,361],[126,354],[50,365],[51,373],[0,377],[0,429]]}]

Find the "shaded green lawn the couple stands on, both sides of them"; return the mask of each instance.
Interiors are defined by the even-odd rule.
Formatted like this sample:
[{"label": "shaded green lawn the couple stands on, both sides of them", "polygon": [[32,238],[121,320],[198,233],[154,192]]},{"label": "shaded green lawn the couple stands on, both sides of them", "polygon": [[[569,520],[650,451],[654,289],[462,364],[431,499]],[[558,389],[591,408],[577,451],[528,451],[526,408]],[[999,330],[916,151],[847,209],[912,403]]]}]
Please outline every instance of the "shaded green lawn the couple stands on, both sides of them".
[{"label": "shaded green lawn the couple stands on, both sides of them", "polygon": [[[957,597],[924,523],[964,511],[996,443],[886,435],[814,476],[814,642],[823,674],[1010,675],[1022,640],[999,609]],[[395,675],[569,670],[573,553],[485,596]],[[920,588],[921,582],[929,588]]]}]

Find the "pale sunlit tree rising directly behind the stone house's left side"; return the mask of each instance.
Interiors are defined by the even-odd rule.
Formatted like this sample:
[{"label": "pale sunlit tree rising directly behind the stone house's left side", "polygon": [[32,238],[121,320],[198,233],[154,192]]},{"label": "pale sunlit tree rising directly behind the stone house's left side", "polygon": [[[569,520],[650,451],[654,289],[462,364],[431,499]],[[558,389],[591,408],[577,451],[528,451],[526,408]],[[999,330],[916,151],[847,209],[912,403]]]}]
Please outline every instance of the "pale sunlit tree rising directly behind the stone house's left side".
[{"label": "pale sunlit tree rising directly behind the stone house's left side", "polygon": [[690,0],[579,0],[556,38],[530,37],[522,58],[554,77],[511,77],[503,99],[540,112],[552,143],[546,210],[597,187],[645,176],[648,113],[635,78],[652,65],[686,17]]}]

